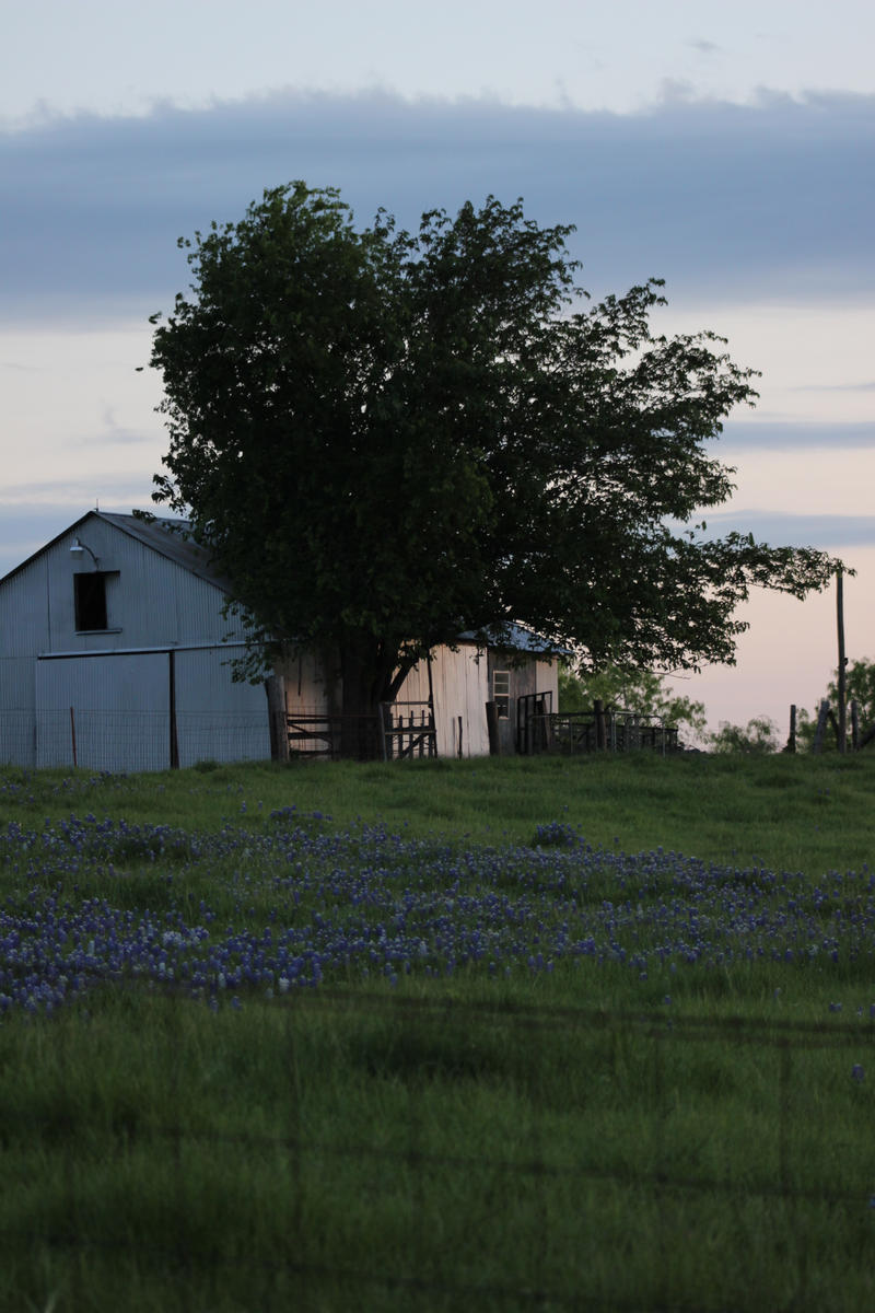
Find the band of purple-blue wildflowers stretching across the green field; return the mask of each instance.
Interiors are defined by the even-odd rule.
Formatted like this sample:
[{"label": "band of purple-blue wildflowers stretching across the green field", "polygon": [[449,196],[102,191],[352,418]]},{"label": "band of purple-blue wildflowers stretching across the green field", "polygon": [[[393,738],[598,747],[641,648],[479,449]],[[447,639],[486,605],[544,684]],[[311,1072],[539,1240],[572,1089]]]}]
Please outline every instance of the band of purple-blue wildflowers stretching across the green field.
[{"label": "band of purple-blue wildflowers stretching across the green field", "polygon": [[[350,973],[394,983],[586,960],[647,979],[660,968],[765,960],[805,970],[872,958],[868,871],[829,872],[812,888],[760,864],[593,848],[564,822],[539,826],[531,847],[489,848],[379,825],[327,832],[321,815],[294,806],[270,819],[268,832],[228,823],[209,835],[93,815],[42,831],[10,823],[0,864],[25,892],[0,905],[0,1012],[54,1011],[97,982],[127,978],[216,1001]],[[131,869],[153,872],[151,909],[127,906],[136,903],[126,894]],[[198,871],[210,872],[215,905],[186,901]],[[102,897],[81,895],[80,885]]]}]

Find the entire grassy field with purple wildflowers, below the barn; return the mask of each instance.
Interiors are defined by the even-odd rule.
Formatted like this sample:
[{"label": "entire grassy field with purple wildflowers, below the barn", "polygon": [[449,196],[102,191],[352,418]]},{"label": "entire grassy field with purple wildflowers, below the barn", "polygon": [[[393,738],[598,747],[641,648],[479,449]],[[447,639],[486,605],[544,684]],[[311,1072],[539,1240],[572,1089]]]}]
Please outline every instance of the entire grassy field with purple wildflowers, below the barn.
[{"label": "entire grassy field with purple wildflowers, below the barn", "polygon": [[0,772],[0,1308],[870,1308],[874,785]]}]

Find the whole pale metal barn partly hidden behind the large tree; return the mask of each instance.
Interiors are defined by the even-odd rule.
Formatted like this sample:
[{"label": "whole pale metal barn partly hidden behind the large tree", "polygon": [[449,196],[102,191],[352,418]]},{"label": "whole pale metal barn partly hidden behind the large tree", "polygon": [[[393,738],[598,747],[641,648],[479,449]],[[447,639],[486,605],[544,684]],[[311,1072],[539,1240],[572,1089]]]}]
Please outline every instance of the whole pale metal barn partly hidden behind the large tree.
[{"label": "whole pale metal barn partly hidden behind the large tree", "polygon": [[[231,679],[243,626],[178,529],[89,511],[0,579],[0,763],[152,771],[270,756],[265,685]],[[316,655],[275,676],[293,751],[335,751],[337,684]],[[493,735],[514,751],[530,714],[555,709],[556,680],[543,641],[521,626],[485,649],[463,634],[411,671],[394,725],[428,722],[439,755],[485,755],[495,702]],[[396,730],[390,754],[392,742],[424,739]]]}]

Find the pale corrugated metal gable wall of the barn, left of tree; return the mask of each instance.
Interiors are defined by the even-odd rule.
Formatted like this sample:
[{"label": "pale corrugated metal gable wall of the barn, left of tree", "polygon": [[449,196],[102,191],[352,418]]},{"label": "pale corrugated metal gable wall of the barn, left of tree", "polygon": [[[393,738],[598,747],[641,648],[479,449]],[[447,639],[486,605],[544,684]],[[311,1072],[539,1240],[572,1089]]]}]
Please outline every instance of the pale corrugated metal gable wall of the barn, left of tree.
[{"label": "pale corrugated metal gable wall of the barn, left of tree", "polygon": [[[71,553],[76,538],[87,551]],[[106,576],[106,628],[80,633],[75,576],[91,571]],[[178,763],[269,756],[264,688],[227,666],[223,601],[102,516],[77,521],[0,587],[0,763],[165,769],[169,647]]]}]

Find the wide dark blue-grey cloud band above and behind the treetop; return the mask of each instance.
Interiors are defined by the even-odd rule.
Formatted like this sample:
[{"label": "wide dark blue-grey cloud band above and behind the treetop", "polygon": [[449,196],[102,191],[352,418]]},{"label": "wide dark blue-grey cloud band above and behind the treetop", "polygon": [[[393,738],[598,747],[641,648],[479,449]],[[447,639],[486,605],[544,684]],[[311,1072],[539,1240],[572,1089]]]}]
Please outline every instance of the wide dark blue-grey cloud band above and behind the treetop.
[{"label": "wide dark blue-grey cloud band above and behind the treetop", "polygon": [[647,113],[286,92],[0,134],[9,316],[150,314],[186,285],[176,239],[240,218],[295,177],[357,217],[523,196],[576,223],[602,294],[656,274],[669,297],[861,297],[875,286],[875,96],[665,100]]}]

